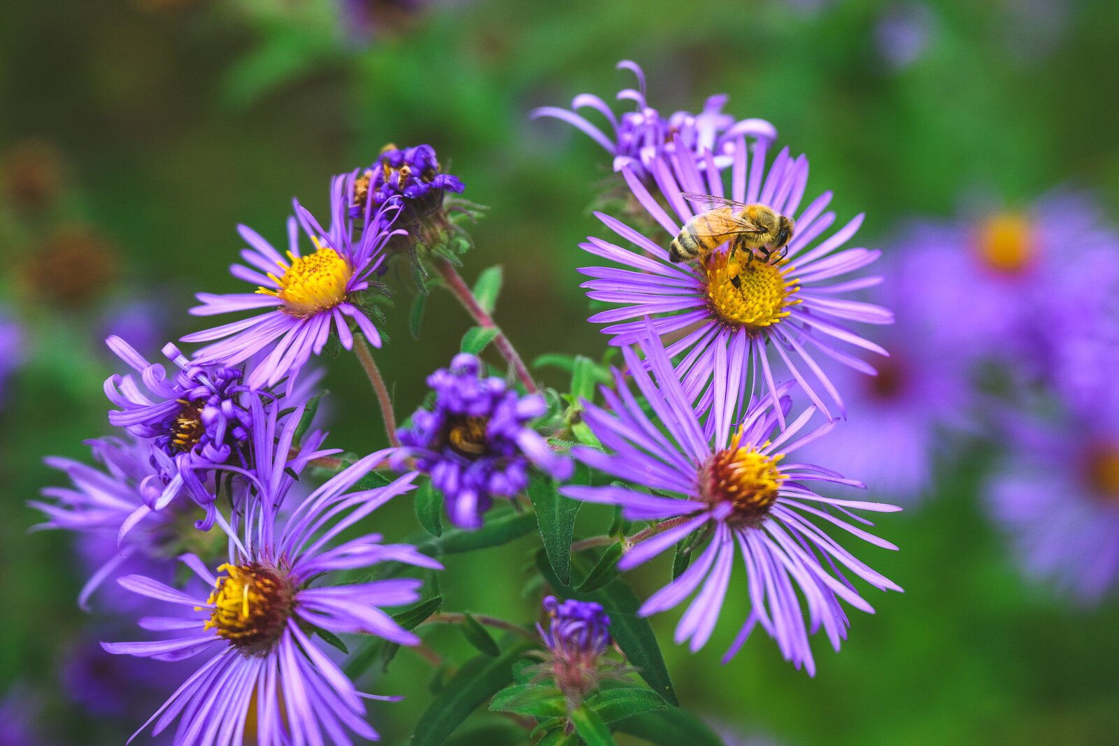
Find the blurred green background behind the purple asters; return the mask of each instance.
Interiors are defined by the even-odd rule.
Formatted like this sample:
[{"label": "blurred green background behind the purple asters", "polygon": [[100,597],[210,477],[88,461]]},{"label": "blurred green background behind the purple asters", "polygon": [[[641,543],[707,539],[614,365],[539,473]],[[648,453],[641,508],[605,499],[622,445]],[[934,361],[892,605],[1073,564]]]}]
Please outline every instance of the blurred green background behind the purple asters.
[{"label": "blurred green background behind the purple asters", "polygon": [[[581,92],[612,97],[632,84],[614,69],[622,58],[645,67],[662,113],[726,92],[736,117],[772,121],[810,158],[809,196],[833,189],[840,223],[867,213],[862,245],[888,251],[908,217],[990,196],[1021,205],[1066,183],[1119,211],[1112,0],[461,0],[391,16],[366,37],[329,0],[4,8],[0,309],[25,344],[0,409],[0,692],[37,692],[44,743],[121,743],[142,721],[93,724],[66,702],[56,680],[66,641],[90,623],[74,602],[83,578],[70,537],[26,533],[37,514],[25,501],[58,483],[41,456],[87,457],[82,441],[107,429],[111,318],[150,322],[153,358],[200,328],[186,314],[194,292],[243,292],[227,273],[237,223],[281,240],[293,196],[321,214],[330,174],[387,142],[431,143],[464,197],[491,207],[463,274],[505,266],[496,315],[527,359],[605,348],[575,268],[610,176],[589,139],[527,114]],[[389,275],[397,301],[378,356],[402,416],[471,325],[436,293],[412,339],[406,274]],[[329,368],[333,444],[382,445],[357,362]],[[902,551],[865,558],[906,592],[871,596],[878,613],[854,613],[840,654],[819,641],[815,680],[760,633],[721,665],[735,613],[696,655],[671,644],[678,614],[657,617],[685,706],[735,734],[728,743],[1116,743],[1119,604],[1080,610],[1019,578],[977,503],[988,455],[943,464],[931,499],[881,521]],[[407,506],[382,519],[391,535],[412,530]],[[533,547],[455,563],[446,608],[527,620]],[[634,578],[643,594],[667,573],[652,569]],[[375,690],[408,696],[374,714],[402,743],[427,700],[423,663],[402,654]]]}]

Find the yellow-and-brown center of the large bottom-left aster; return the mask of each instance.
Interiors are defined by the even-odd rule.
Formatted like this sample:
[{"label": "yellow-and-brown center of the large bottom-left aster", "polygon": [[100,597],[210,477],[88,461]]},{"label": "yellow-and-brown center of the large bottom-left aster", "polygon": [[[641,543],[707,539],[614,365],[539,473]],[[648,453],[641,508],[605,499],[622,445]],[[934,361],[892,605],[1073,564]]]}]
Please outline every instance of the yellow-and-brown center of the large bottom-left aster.
[{"label": "yellow-and-brown center of the large bottom-left aster", "polygon": [[222,565],[225,573],[206,603],[214,612],[206,629],[216,629],[246,655],[266,653],[280,639],[295,596],[291,580],[258,564]]}]

